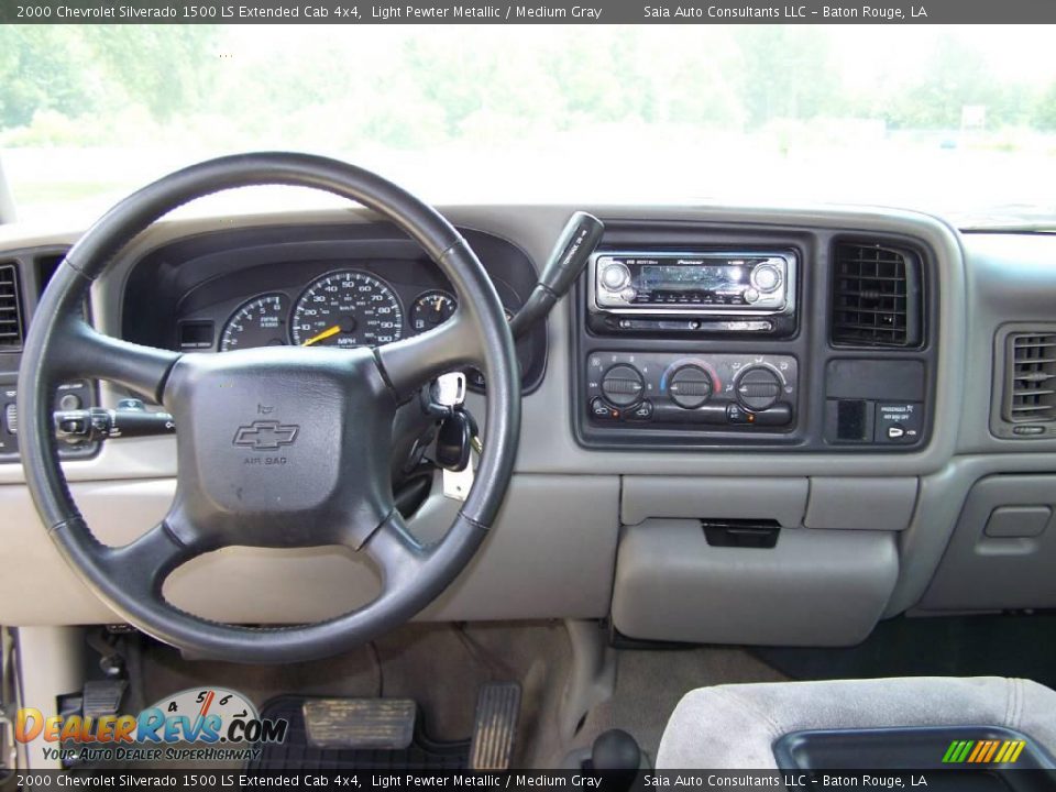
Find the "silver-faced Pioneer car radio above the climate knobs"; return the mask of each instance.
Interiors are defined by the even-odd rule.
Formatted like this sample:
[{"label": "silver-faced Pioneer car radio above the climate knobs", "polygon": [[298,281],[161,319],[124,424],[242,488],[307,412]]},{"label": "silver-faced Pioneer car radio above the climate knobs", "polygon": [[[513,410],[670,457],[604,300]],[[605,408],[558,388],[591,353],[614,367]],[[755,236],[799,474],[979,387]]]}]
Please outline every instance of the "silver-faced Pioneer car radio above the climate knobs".
[{"label": "silver-faced Pioneer car radio above the climate knobs", "polygon": [[795,283],[792,251],[595,253],[588,322],[617,332],[789,334]]}]

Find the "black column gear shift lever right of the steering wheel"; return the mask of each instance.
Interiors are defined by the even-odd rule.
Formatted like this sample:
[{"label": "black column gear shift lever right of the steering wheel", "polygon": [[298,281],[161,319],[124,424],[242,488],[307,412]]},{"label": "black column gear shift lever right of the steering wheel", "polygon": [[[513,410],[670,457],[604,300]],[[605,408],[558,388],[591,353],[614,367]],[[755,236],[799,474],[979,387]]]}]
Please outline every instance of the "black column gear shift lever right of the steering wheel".
[{"label": "black column gear shift lever right of the steering wheel", "polygon": [[604,231],[605,224],[593,215],[578,211],[569,218],[535,288],[509,321],[509,330],[515,338],[544,318],[554,304],[564,297],[583,272]]}]

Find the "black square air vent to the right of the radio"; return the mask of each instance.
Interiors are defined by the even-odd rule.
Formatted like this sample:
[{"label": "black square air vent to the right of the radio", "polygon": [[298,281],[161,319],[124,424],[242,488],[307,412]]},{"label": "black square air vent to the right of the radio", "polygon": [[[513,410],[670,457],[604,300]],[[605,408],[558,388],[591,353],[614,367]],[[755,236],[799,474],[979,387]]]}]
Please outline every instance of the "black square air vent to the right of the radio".
[{"label": "black square air vent to the right of the radio", "polygon": [[832,338],[844,346],[920,345],[916,255],[879,244],[837,244]]}]

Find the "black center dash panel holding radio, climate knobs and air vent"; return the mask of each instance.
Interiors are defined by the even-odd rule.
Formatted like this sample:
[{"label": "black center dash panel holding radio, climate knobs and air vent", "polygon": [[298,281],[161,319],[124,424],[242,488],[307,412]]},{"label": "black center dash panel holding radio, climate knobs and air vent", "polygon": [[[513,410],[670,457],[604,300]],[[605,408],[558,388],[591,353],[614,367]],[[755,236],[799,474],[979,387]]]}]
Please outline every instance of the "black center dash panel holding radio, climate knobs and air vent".
[{"label": "black center dash panel holding radio, climate knobs and air vent", "polygon": [[579,442],[920,448],[927,258],[906,239],[607,221],[576,300]]}]

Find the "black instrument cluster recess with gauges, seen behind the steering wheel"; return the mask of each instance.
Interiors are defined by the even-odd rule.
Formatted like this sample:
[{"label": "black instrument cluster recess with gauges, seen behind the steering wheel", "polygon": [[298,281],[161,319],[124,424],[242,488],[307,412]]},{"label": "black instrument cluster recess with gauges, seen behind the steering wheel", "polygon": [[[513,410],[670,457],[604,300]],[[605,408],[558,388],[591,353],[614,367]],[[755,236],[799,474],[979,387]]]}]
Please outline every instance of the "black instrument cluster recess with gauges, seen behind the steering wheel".
[{"label": "black instrument cluster recess with gauges, seen behind the steering wheel", "polygon": [[[512,318],[535,285],[531,262],[502,239],[464,233]],[[389,227],[263,234],[229,232],[152,252],[127,286],[125,338],[183,352],[378,346],[438,327],[458,308],[439,268]],[[546,367],[541,330],[518,355],[531,391]],[[480,371],[466,373],[472,387],[484,387]]]}]

